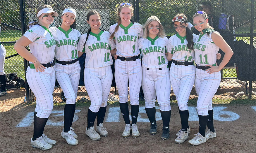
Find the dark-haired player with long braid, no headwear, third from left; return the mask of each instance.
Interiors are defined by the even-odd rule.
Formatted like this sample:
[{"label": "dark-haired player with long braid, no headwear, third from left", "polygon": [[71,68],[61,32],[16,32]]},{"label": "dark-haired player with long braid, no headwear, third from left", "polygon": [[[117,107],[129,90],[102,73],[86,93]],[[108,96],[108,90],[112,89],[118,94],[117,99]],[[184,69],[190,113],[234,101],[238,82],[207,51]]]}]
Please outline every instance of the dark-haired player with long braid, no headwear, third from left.
[{"label": "dark-haired player with long braid, no headwear, third from left", "polygon": [[[110,41],[110,33],[101,31],[100,15],[92,10],[87,14],[90,29],[83,34],[78,42],[78,51],[85,52],[85,89],[90,97],[91,105],[87,112],[87,128],[85,134],[92,140],[99,140],[100,136],[107,136],[103,126],[106,113],[107,97],[113,80],[111,64],[111,49],[115,48],[114,41]],[[81,53],[79,53],[81,54]],[[97,127],[94,122],[97,116]]]}]

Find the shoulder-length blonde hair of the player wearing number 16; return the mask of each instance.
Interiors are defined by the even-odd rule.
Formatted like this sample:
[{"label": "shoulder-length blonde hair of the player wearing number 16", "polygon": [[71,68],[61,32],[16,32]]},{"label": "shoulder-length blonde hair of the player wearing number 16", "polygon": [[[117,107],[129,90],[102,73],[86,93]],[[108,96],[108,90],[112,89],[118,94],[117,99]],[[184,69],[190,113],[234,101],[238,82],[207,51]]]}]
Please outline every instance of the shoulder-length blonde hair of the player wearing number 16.
[{"label": "shoulder-length blonde hair of the player wearing number 16", "polygon": [[152,21],[157,21],[159,23],[159,32],[157,34],[157,36],[164,38],[166,36],[165,32],[164,32],[164,27],[162,26],[159,18],[157,16],[151,16],[147,19],[146,23],[142,26],[142,28],[144,29],[144,35],[143,38],[147,38],[148,36],[148,25],[152,22]]}]

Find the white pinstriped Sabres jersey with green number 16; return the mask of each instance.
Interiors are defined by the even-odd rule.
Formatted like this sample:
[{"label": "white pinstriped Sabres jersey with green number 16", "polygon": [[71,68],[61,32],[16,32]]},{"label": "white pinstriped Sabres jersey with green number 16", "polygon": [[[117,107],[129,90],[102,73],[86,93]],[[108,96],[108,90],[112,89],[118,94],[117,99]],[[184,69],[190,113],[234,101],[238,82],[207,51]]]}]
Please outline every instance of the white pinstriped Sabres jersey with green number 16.
[{"label": "white pinstriped Sabres jersey with green number 16", "polygon": [[139,48],[142,53],[142,67],[144,68],[162,68],[168,65],[165,53],[168,49],[168,38],[156,36],[139,38]]}]

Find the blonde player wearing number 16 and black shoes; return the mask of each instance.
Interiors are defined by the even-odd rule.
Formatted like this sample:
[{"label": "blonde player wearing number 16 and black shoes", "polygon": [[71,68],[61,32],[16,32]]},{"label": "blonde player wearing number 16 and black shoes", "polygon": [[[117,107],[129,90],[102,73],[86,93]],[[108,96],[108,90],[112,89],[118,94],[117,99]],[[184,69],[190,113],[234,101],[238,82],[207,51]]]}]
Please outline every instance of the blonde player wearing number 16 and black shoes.
[{"label": "blonde player wearing number 16 and black shoes", "polygon": [[164,28],[156,16],[147,19],[143,26],[145,33],[139,38],[139,48],[142,53],[142,89],[145,96],[145,110],[150,120],[150,134],[157,133],[156,96],[163,120],[161,138],[169,138],[169,123],[171,117],[170,91],[167,53],[168,38]]}]

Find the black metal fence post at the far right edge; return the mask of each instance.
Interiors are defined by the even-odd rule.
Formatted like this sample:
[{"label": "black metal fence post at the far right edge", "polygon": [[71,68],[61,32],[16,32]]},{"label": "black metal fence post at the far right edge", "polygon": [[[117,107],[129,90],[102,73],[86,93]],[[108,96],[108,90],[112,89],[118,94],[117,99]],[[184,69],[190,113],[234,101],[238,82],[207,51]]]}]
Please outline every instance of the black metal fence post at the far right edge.
[{"label": "black metal fence post at the far right edge", "polygon": [[[253,24],[254,24],[254,22],[253,22],[253,20],[254,20],[254,0],[251,0],[251,26],[250,26],[250,54],[252,54],[252,52],[253,52],[253,50],[254,50],[254,46],[253,46]],[[252,57],[252,56],[250,56],[250,57]],[[250,75],[251,75],[251,78],[252,78],[252,66],[253,65],[255,65],[254,63],[252,63],[252,62],[254,62],[253,60],[251,60],[251,63],[250,63],[250,66],[249,66],[249,68],[250,68]],[[251,98],[252,97],[252,80],[250,79],[250,81],[249,81],[249,98]]]}]

